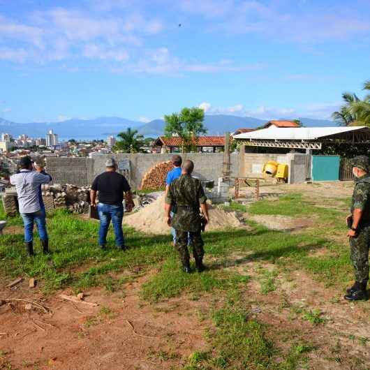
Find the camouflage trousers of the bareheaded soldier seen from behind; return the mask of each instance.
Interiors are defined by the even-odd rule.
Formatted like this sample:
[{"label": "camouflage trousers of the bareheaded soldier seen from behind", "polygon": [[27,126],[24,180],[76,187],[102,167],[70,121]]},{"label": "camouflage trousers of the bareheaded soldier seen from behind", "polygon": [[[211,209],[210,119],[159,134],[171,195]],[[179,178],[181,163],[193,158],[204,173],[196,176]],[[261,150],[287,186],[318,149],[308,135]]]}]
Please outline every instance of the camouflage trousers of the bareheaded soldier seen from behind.
[{"label": "camouflage trousers of the bareheaded soldier seen from behind", "polygon": [[[189,234],[189,235],[188,235]],[[205,255],[205,250],[203,246],[205,245],[202,239],[201,232],[187,232],[182,230],[176,230],[177,240],[175,248],[179,251],[180,258],[183,265],[188,265],[190,261],[189,251],[188,251],[188,236],[192,241],[193,256],[195,261],[202,261]]]}]

